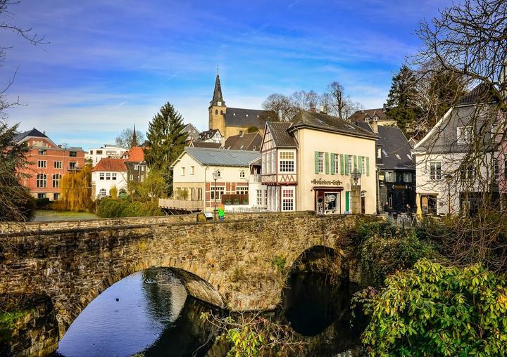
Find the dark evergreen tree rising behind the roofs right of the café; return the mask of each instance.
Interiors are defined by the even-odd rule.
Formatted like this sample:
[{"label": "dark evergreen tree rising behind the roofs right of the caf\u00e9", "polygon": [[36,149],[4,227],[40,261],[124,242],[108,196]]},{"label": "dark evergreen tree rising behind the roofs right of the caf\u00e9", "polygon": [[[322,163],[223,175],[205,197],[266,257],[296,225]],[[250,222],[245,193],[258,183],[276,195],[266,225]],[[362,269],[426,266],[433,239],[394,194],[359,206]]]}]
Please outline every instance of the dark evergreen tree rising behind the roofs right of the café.
[{"label": "dark evergreen tree rising behind the roofs right of the caf\u00e9", "polygon": [[403,65],[392,79],[387,97],[387,117],[396,121],[401,131],[411,136],[413,126],[421,115],[418,106],[417,79],[414,72]]}]

